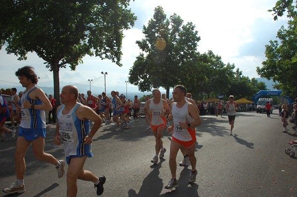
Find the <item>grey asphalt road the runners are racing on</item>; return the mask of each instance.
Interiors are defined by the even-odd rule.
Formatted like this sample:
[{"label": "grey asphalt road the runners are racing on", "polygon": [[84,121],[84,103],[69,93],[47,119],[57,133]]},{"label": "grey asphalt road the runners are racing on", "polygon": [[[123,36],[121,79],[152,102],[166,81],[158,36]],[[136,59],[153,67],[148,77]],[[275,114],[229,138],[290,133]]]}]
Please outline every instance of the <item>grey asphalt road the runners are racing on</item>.
[{"label": "grey asphalt road the runners are racing on", "polygon": [[[226,115],[202,116],[197,127],[196,156],[198,176],[188,184],[191,166],[177,167],[179,186],[164,189],[170,181],[169,147],[171,135],[163,133],[164,159],[154,156],[154,137],[147,131],[145,118],[132,121],[128,130],[114,131],[115,125],[103,125],[94,136],[94,157],[85,170],[105,175],[102,197],[297,197],[297,158],[285,153],[292,136],[282,133],[281,120],[273,113],[239,112],[233,136]],[[54,125],[46,138],[45,151],[64,159],[63,147],[53,144]],[[6,134],[9,137],[9,134]],[[14,151],[16,139],[0,142],[1,190],[15,182]],[[297,152],[296,152],[297,154]],[[26,156],[26,192],[9,197],[65,197],[66,176],[58,179],[54,166],[34,157],[32,147]],[[178,153],[177,163],[182,160]],[[67,169],[67,167],[66,167]],[[78,180],[78,197],[96,196],[93,183]]]}]

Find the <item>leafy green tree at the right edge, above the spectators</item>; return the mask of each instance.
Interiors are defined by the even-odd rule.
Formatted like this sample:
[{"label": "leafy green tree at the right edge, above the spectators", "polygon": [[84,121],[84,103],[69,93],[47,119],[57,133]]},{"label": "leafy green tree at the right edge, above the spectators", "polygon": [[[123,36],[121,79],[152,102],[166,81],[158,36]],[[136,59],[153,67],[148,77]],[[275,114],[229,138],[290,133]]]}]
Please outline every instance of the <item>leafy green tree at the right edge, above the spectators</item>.
[{"label": "leafy green tree at the right edge, above the spectators", "polygon": [[[289,7],[288,12],[290,18],[297,16],[293,7]],[[270,41],[265,46],[267,59],[262,62],[261,68],[257,67],[257,73],[263,78],[278,82],[275,88],[294,98],[297,95],[297,62],[292,61],[292,57],[297,53],[296,23],[290,20],[288,29],[281,27],[277,38],[280,44],[278,41]]]}]

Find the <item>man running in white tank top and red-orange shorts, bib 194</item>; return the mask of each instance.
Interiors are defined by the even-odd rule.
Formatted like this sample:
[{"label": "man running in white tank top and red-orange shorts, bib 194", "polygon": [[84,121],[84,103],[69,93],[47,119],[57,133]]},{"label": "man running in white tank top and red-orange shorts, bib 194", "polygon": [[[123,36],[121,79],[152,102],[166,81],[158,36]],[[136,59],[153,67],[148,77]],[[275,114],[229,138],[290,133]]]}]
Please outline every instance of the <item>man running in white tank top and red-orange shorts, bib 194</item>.
[{"label": "man running in white tank top and red-orange shorts, bib 194", "polygon": [[201,124],[200,117],[196,107],[185,100],[187,89],[184,86],[176,86],[173,91],[174,103],[170,106],[170,113],[173,116],[171,127],[167,128],[168,133],[174,130],[170,145],[169,166],[172,179],[165,186],[165,189],[171,190],[178,186],[176,180],[176,155],[178,150],[184,146],[188,148],[192,172],[190,174],[189,183],[194,183],[196,180],[196,133],[195,127]]}]

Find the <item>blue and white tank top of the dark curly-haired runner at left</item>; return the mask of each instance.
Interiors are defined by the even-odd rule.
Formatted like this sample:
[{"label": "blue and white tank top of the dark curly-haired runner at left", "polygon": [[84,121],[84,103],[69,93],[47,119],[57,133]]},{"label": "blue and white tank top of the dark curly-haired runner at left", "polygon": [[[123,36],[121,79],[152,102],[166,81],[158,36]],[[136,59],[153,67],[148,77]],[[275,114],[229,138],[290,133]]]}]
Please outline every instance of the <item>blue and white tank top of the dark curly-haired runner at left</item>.
[{"label": "blue and white tank top of the dark curly-haired runner at left", "polygon": [[30,99],[28,94],[38,88],[32,87],[28,92],[24,93],[21,98],[21,124],[20,126],[25,129],[45,129],[46,128],[46,113],[44,110],[24,108],[24,102],[29,100],[31,104],[40,105],[44,104],[41,100]]}]

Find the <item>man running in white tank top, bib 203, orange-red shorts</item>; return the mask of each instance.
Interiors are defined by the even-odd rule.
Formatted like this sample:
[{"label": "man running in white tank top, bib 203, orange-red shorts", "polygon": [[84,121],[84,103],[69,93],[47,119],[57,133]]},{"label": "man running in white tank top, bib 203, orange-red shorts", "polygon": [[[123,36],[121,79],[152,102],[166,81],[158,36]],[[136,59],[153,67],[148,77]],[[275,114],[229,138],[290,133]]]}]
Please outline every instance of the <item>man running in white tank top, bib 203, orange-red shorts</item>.
[{"label": "man running in white tank top, bib 203, orange-red shorts", "polygon": [[151,162],[158,163],[159,152],[159,158],[163,158],[164,153],[166,152],[166,148],[163,148],[163,141],[161,140],[161,137],[166,125],[165,115],[169,113],[169,107],[167,102],[161,99],[161,93],[158,89],[152,90],[152,96],[153,99],[149,99],[147,101],[147,104],[144,107],[144,112],[150,115],[151,130],[156,138],[155,156]]}]

